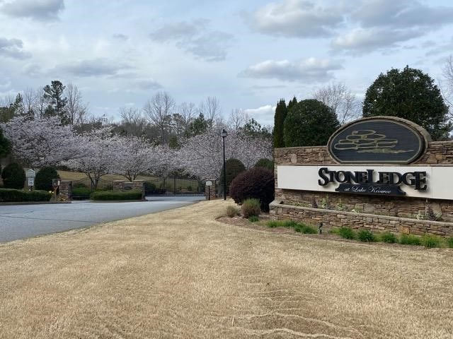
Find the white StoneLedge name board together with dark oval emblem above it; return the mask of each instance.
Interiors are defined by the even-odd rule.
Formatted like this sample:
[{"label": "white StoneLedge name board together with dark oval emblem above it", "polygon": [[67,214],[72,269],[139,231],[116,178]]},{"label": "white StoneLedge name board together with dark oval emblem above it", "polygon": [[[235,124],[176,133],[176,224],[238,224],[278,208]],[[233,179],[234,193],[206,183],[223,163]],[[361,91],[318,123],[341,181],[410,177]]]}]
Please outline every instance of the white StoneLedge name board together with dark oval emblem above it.
[{"label": "white StoneLedge name board together with dark oval emblem above it", "polygon": [[453,178],[453,167],[406,165],[420,159],[429,139],[428,132],[405,119],[353,121],[328,141],[329,155],[341,165],[278,165],[277,187],[450,199],[446,180]]}]

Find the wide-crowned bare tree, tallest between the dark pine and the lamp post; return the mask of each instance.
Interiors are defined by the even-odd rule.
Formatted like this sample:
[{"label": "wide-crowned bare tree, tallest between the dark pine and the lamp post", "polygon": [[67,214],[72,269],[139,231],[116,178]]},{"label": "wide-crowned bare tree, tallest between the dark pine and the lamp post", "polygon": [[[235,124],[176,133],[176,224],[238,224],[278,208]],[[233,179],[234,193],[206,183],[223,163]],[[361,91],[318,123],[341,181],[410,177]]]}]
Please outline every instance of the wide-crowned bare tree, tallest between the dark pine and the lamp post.
[{"label": "wide-crowned bare tree, tallest between the dark pine and the lamp post", "polygon": [[149,122],[159,128],[161,143],[168,142],[168,130],[171,125],[171,114],[175,108],[175,100],[166,92],[156,93],[144,105],[143,111]]}]

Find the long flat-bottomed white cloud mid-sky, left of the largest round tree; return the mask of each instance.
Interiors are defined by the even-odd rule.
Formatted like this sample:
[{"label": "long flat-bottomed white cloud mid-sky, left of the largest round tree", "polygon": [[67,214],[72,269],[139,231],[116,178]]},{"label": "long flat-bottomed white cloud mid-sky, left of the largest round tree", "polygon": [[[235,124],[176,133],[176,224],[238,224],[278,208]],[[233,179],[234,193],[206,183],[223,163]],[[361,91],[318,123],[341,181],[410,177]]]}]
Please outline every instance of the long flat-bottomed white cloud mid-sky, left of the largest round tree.
[{"label": "long flat-bottomed white cloud mid-sky, left of the largest round tree", "polygon": [[317,81],[333,78],[332,71],[342,69],[338,61],[309,58],[302,61],[266,60],[239,73],[247,78],[276,78],[281,81]]}]

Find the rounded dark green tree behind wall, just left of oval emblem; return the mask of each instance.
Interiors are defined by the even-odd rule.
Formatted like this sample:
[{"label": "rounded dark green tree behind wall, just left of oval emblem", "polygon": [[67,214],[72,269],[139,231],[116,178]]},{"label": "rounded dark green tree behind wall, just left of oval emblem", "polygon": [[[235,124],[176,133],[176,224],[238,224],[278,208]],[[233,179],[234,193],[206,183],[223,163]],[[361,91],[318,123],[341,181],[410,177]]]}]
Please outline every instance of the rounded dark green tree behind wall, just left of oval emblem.
[{"label": "rounded dark green tree behind wall, just left of oval emblem", "polygon": [[285,146],[327,145],[340,123],[335,111],[314,99],[302,100],[289,111],[283,127]]}]

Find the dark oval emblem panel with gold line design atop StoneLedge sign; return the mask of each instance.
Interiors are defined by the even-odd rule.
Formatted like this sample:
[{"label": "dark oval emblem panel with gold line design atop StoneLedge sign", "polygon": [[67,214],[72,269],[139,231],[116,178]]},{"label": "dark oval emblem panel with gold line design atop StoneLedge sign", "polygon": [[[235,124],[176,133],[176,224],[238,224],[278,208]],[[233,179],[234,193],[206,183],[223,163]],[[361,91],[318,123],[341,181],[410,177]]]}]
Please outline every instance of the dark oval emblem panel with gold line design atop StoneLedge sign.
[{"label": "dark oval emblem panel with gold line design atop StoneLedge sign", "polygon": [[411,121],[373,117],[341,127],[327,146],[341,164],[408,164],[425,152],[428,138],[428,132]]}]

